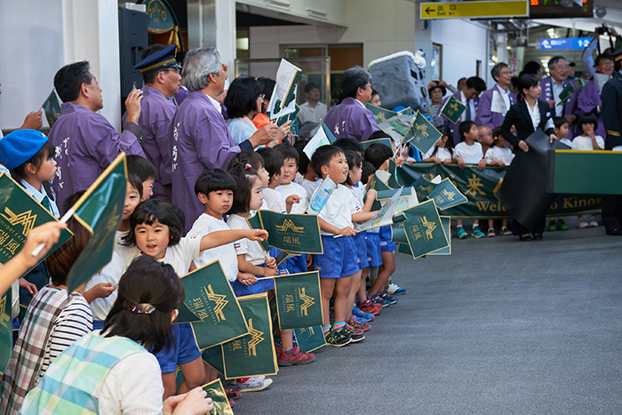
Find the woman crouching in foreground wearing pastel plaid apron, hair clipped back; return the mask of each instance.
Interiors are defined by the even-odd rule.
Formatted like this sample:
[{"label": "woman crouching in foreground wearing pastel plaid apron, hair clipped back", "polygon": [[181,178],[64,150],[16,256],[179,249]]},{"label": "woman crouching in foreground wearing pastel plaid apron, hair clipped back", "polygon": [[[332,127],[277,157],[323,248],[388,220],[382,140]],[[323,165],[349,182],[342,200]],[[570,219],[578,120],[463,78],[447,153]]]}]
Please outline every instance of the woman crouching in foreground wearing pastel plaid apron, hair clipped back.
[{"label": "woman crouching in foreground wearing pastel plaid apron, hair clipped back", "polygon": [[200,388],[163,403],[160,366],[147,351],[167,347],[184,299],[171,265],[141,256],[121,277],[118,290],[101,333],[93,331],[65,350],[26,395],[20,413],[198,415],[213,409]]}]

